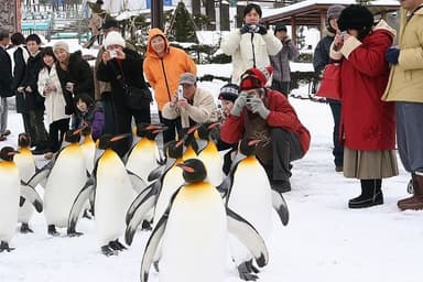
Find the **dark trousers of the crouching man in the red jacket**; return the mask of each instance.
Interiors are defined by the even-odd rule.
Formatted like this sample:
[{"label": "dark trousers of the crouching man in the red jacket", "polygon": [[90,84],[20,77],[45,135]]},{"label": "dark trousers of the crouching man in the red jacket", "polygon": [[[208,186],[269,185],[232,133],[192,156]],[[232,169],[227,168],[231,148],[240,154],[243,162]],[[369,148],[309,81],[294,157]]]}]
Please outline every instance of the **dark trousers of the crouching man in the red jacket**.
[{"label": "dark trousers of the crouching man in the red jacket", "polygon": [[270,181],[289,181],[291,177],[292,161],[304,156],[300,139],[295,133],[282,129],[273,128],[272,135],[272,164],[263,164]]}]

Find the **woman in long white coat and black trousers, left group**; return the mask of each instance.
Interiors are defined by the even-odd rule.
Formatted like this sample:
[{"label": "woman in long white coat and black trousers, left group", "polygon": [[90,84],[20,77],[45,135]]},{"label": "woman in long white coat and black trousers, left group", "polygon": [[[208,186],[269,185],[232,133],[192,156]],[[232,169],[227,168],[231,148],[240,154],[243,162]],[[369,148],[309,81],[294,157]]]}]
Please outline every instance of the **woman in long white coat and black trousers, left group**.
[{"label": "woman in long white coat and black trousers, left group", "polygon": [[63,135],[69,129],[69,116],[65,113],[65,98],[56,72],[56,57],[52,47],[45,47],[42,53],[44,67],[39,74],[39,93],[45,97],[47,113],[50,152],[44,156],[51,159],[52,153],[59,150]]}]

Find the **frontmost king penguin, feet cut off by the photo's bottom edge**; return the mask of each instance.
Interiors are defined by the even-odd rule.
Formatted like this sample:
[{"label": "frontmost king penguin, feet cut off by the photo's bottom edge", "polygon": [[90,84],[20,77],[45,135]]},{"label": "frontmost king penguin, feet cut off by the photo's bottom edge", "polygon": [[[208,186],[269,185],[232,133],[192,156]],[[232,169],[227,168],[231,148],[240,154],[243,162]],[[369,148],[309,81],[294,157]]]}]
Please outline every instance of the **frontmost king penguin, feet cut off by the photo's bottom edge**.
[{"label": "frontmost king penguin, feet cut off by the photo's bottom edge", "polygon": [[220,194],[206,181],[203,162],[189,159],[177,166],[183,170],[185,184],[173,195],[147,243],[141,282],[148,281],[160,241],[161,282],[224,281],[228,229],[249,247],[259,265],[267,264],[264,241],[250,224],[225,209]]}]

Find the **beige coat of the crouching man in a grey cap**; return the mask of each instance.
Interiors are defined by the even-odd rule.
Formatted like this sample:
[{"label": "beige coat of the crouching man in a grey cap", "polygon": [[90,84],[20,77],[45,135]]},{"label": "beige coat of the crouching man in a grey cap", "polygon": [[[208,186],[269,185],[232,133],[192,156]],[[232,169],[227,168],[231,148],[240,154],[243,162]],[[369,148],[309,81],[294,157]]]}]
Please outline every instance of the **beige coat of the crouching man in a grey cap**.
[{"label": "beige coat of the crouching man in a grey cap", "polygon": [[200,88],[196,88],[193,105],[188,105],[185,109],[180,108],[176,105],[171,106],[171,102],[166,102],[163,106],[162,115],[166,119],[176,119],[181,116],[182,128],[189,128],[189,118],[195,122],[213,122],[216,121],[215,115],[216,104],[213,95]]}]

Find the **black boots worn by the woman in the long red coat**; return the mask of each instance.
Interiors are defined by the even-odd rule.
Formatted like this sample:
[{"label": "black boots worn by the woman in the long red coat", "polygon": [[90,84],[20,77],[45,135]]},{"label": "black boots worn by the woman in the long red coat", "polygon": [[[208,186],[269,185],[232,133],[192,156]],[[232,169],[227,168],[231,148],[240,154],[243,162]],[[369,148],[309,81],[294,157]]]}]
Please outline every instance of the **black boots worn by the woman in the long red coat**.
[{"label": "black boots worn by the woman in the long red coat", "polygon": [[383,204],[381,180],[360,180],[361,195],[348,202],[349,208],[365,208]]}]

